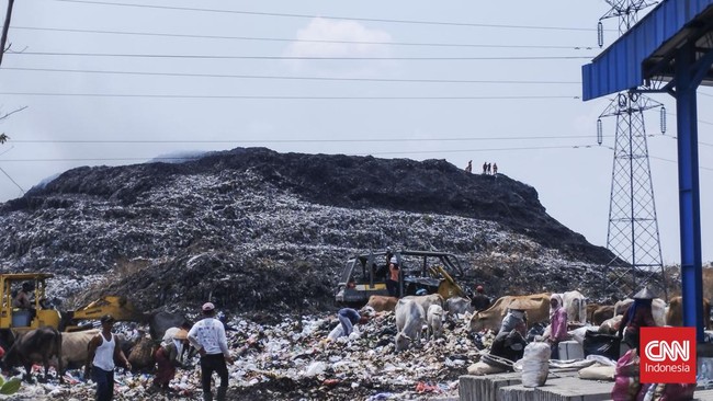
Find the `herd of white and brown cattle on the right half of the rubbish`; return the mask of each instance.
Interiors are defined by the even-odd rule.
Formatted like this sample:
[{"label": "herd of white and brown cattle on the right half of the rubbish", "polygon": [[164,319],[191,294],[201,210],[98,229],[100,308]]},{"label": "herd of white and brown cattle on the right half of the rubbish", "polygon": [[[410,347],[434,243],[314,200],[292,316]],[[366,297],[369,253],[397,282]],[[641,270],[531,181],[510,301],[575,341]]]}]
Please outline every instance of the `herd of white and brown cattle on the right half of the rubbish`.
[{"label": "herd of white and brown cattle on the right half of the rubbish", "polygon": [[[401,299],[386,296],[372,296],[367,306],[375,311],[395,311],[397,334],[396,351],[405,350],[411,342],[420,342],[421,328],[428,328],[429,337],[442,334],[443,320],[451,317],[469,316],[468,326],[472,332],[484,330],[498,331],[511,305],[517,301],[518,308],[523,309],[528,317],[528,326],[535,323],[548,323],[551,294],[534,294],[528,296],[505,296],[498,298],[485,310],[476,311],[471,300],[461,297],[443,299],[439,294],[423,296],[407,296]],[[613,334],[619,329],[626,309],[634,301],[624,299],[615,305],[588,303],[587,298],[579,291],[562,294],[567,320],[570,323],[589,323],[599,326],[600,333]],[[663,299],[653,301],[653,316],[657,325],[682,325],[681,297],[675,297],[667,305]],[[703,300],[703,321],[706,329],[711,326],[710,303]]]}]

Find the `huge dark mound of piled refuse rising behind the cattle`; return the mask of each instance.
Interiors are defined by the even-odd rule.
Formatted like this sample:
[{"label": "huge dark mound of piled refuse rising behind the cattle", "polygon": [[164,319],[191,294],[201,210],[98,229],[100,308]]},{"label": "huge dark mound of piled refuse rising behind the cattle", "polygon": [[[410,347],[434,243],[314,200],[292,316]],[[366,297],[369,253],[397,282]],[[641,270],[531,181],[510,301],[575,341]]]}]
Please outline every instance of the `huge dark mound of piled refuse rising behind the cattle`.
[{"label": "huge dark mound of piled refuse rising behind the cattle", "polygon": [[532,186],[443,160],[237,148],[78,168],[0,205],[0,270],[54,273],[50,293],[77,302],[326,310],[344,261],[382,249],[452,252],[466,285],[490,294],[606,297],[613,257],[547,215]]}]

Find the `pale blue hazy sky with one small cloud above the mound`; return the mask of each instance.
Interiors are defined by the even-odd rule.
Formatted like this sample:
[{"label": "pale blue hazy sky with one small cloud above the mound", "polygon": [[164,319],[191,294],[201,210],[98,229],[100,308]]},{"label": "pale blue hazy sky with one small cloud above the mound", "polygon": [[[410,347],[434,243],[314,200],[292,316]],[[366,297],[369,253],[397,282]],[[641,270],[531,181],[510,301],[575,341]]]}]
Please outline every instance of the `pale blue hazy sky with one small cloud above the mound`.
[{"label": "pale blue hazy sky with one small cloud above the mound", "polygon": [[[4,14],[7,0],[0,1]],[[0,202],[81,165],[185,151],[484,162],[607,244],[612,96],[582,102],[603,0],[22,0],[0,69]],[[643,16],[645,14],[642,13]],[[603,44],[616,37],[603,21]],[[676,107],[646,113],[664,263],[680,261]],[[703,261],[713,89],[699,90]]]}]

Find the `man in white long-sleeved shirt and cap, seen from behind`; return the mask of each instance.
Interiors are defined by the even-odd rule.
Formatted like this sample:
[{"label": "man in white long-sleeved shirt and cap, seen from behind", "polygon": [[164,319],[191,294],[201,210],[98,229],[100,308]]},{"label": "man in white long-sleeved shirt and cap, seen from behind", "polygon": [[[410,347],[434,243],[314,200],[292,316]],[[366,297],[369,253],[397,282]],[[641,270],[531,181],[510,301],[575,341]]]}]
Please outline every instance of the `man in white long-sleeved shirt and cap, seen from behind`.
[{"label": "man in white long-sleeved shirt and cap, seen from behind", "polygon": [[228,341],[225,336],[223,323],[215,319],[215,305],[205,302],[201,308],[203,319],[193,324],[189,331],[189,342],[201,354],[201,385],[203,387],[203,401],[213,401],[211,392],[211,375],[217,373],[220,386],[216,400],[225,401],[228,391],[228,367],[233,357],[228,352]]}]

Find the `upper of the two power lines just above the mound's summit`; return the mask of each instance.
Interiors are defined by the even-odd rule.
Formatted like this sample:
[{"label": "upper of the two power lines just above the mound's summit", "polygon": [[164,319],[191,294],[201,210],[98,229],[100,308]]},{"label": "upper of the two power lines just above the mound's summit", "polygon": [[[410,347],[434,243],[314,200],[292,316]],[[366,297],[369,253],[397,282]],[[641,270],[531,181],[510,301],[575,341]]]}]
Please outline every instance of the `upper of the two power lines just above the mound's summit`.
[{"label": "upper of the two power lines just above the mound's summit", "polygon": [[352,139],[16,139],[13,144],[321,144],[321,142],[430,142],[472,140],[541,140],[589,138],[589,135],[469,138],[352,138]]}]

